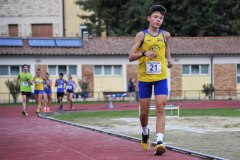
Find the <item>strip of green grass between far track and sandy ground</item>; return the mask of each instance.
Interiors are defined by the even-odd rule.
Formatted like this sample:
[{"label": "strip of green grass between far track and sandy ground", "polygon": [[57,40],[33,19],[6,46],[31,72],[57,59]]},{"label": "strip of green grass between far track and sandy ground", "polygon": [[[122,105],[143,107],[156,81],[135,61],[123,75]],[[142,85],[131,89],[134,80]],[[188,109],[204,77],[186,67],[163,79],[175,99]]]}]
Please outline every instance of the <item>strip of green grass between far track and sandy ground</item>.
[{"label": "strip of green grass between far track and sandy ground", "polygon": [[[175,113],[174,113],[175,112]],[[173,111],[176,115],[176,111]],[[155,111],[150,111],[150,116],[155,116]],[[170,115],[170,111],[166,111]],[[54,117],[62,120],[74,120],[81,118],[136,118],[138,111],[94,111],[94,112],[68,112],[55,115]],[[240,117],[240,109],[181,109],[181,117],[190,116],[220,116],[220,117]]]}]

